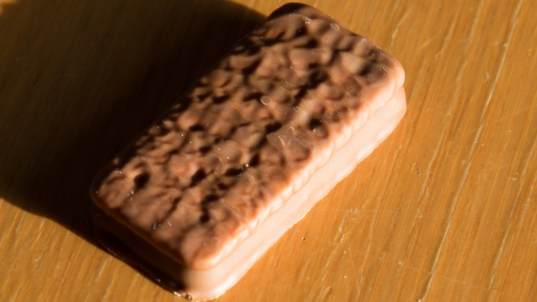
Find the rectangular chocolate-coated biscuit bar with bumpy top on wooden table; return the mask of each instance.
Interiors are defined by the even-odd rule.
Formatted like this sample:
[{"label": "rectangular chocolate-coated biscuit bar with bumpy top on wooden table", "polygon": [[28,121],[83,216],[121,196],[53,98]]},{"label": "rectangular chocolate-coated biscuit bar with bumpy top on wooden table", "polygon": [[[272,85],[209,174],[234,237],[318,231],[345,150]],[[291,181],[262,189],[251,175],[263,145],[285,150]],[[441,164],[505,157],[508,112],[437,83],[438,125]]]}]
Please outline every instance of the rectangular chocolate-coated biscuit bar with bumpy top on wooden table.
[{"label": "rectangular chocolate-coated biscuit bar with bumpy top on wooden table", "polygon": [[94,179],[98,241],[224,293],[395,128],[404,71],[310,6],[275,10]]}]

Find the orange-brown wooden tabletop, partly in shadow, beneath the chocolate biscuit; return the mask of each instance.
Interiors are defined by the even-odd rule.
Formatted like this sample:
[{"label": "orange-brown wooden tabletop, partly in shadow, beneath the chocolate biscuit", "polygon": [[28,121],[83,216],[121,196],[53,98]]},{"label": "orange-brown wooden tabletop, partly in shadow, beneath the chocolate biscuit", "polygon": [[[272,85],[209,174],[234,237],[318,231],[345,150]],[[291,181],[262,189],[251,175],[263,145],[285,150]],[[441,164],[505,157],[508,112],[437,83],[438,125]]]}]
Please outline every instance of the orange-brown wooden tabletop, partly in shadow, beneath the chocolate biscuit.
[{"label": "orange-brown wooden tabletop, partly in shadow, beneath the chocolate biscuit", "polygon": [[[284,1],[0,0],[0,301],[183,301],[92,176]],[[537,1],[306,1],[399,58],[395,132],[218,301],[536,301]]]}]

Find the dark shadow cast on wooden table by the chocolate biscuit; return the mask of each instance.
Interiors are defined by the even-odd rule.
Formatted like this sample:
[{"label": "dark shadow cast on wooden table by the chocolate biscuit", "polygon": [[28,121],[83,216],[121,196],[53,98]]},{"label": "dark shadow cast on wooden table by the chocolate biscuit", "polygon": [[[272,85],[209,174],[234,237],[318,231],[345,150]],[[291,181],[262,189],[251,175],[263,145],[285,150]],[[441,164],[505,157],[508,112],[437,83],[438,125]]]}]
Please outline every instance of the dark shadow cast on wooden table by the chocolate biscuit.
[{"label": "dark shadow cast on wooden table by the chocolate biscuit", "polygon": [[0,8],[0,197],[92,243],[92,177],[264,19],[218,0]]}]

